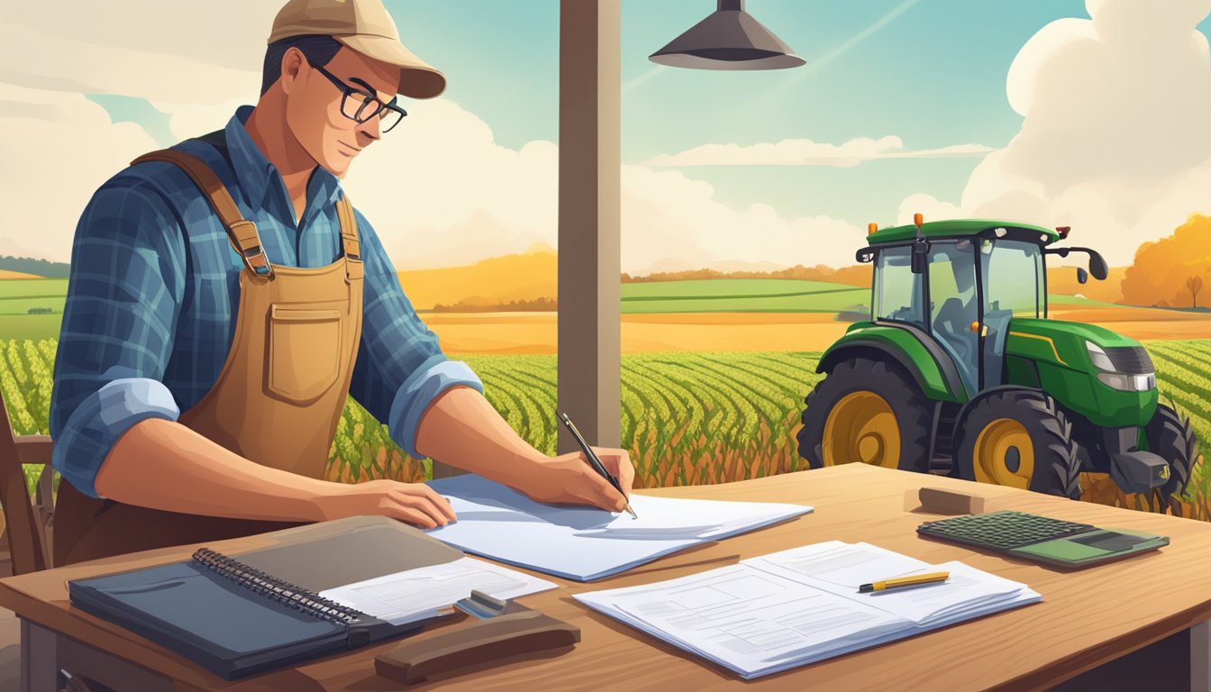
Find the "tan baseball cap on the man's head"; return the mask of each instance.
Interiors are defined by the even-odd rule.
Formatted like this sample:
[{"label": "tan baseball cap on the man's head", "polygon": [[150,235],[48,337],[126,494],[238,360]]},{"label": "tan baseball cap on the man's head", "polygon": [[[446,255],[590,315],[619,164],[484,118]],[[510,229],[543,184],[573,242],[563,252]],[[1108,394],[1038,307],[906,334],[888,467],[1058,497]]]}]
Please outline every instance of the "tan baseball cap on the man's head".
[{"label": "tan baseball cap on the man's head", "polygon": [[400,42],[383,0],[289,0],[269,34],[269,42],[304,34],[337,39],[363,56],[400,65],[400,93],[432,98],[446,90],[446,75]]}]

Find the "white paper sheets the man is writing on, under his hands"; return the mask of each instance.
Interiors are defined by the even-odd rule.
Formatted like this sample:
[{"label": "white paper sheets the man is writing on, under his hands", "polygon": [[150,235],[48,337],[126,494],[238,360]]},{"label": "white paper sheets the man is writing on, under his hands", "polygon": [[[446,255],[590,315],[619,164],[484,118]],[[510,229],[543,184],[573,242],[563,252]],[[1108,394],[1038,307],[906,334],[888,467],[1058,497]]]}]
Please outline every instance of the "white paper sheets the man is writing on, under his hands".
[{"label": "white paper sheets the man is writing on, under his hands", "polygon": [[476,475],[431,481],[458,521],[429,531],[438,541],[521,567],[587,582],[705,543],[811,511],[803,504],[632,494],[638,514],[534,502]]}]

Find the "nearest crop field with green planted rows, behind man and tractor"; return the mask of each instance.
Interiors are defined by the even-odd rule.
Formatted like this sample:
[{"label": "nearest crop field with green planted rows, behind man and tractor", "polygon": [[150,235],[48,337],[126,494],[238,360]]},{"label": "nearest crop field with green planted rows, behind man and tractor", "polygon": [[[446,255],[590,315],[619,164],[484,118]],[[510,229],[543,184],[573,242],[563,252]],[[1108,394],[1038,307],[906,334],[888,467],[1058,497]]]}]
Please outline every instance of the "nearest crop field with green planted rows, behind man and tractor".
[{"label": "nearest crop field with green planted rows, behind man and tractor", "polygon": [[[1161,400],[1211,440],[1211,341],[1147,342]],[[803,398],[821,376],[819,353],[716,351],[627,354],[622,358],[622,447],[636,464],[636,487],[701,485],[802,470],[794,433]],[[556,451],[555,355],[460,355],[484,382],[488,400],[538,450]],[[17,434],[47,434],[54,341],[0,341],[0,387]],[[33,482],[38,469],[27,469]],[[386,427],[348,400],[329,452],[328,477],[415,482],[430,462],[413,459]],[[1161,510],[1086,474],[1085,499]],[[1211,520],[1211,471],[1199,463],[1171,511]]]}]

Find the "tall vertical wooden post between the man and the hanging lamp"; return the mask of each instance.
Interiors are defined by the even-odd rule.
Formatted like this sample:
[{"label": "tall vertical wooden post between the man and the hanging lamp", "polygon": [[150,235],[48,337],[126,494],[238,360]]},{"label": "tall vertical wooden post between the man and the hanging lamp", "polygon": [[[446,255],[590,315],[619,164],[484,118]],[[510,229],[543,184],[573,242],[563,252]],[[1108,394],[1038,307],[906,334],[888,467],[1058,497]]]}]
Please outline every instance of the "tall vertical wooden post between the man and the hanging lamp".
[{"label": "tall vertical wooden post between the man and the hanging lamp", "polygon": [[619,0],[559,2],[558,408],[604,447],[621,444],[619,18]]}]

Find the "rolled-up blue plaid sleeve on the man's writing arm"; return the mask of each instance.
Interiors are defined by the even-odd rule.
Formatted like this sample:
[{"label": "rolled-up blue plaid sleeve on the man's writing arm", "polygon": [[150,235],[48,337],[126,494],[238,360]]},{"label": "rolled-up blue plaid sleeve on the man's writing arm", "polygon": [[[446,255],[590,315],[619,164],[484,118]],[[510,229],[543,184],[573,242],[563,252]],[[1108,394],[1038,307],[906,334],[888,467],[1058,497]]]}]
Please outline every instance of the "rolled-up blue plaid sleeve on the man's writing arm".
[{"label": "rolled-up blue plaid sleeve on the man's writing arm", "polygon": [[362,338],[349,391],[408,454],[429,405],[452,387],[483,393],[483,383],[461,361],[442,353],[435,334],[403,294],[400,278],[371,224],[355,213],[363,261]]}]

